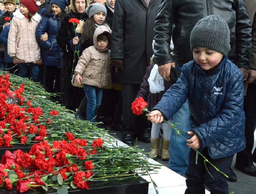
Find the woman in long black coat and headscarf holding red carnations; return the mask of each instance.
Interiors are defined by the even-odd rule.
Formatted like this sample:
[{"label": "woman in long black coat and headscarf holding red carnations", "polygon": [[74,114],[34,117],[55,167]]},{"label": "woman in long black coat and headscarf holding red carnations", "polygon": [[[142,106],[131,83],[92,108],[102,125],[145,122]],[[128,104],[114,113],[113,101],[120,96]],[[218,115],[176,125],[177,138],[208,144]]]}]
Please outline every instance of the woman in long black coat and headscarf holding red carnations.
[{"label": "woman in long black coat and headscarf holding red carnations", "polygon": [[60,78],[60,91],[61,91],[61,105],[70,110],[75,110],[84,97],[82,88],[74,87],[71,84],[71,77],[74,74],[74,69],[78,61],[78,56],[75,56],[71,49],[71,43],[75,38],[74,26],[68,22],[69,19],[75,18],[86,21],[89,17],[85,13],[87,1],[85,0],[71,0],[71,11],[61,21],[60,30],[57,34],[57,43],[63,49],[61,78]]}]

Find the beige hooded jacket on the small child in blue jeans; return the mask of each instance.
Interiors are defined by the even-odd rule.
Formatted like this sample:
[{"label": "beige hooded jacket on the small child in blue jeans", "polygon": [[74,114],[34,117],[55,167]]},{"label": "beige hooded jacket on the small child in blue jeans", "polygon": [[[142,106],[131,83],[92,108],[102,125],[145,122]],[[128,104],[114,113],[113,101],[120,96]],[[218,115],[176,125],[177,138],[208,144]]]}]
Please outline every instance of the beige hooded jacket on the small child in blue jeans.
[{"label": "beige hooded jacket on the small child in blue jeans", "polygon": [[93,36],[94,46],[83,51],[76,65],[75,75],[82,76],[83,84],[94,85],[99,88],[112,88],[110,50],[108,48],[100,50],[97,43],[98,35],[104,32],[111,33],[109,28],[105,26],[96,28]]}]

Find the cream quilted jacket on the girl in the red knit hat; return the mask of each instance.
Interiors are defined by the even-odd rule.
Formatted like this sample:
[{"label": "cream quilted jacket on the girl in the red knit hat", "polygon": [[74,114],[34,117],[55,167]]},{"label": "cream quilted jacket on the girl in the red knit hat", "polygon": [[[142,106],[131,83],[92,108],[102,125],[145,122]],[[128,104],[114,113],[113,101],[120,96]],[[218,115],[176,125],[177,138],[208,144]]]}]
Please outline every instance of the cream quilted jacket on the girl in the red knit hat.
[{"label": "cream quilted jacket on the girl in the red knit hat", "polygon": [[41,57],[40,47],[35,38],[35,29],[41,20],[41,16],[36,13],[29,22],[19,9],[13,15],[8,34],[8,54],[25,62],[35,63],[39,61]]}]

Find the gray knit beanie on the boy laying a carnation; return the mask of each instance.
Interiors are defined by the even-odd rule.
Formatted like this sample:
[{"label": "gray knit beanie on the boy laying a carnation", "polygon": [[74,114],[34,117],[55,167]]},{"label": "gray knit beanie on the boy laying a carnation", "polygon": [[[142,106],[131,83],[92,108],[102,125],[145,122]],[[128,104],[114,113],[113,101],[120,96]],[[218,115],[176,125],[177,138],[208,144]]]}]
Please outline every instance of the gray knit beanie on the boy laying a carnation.
[{"label": "gray knit beanie on the boy laying a carnation", "polygon": [[230,50],[229,26],[219,15],[209,15],[199,20],[190,35],[190,49],[205,47],[224,56]]}]

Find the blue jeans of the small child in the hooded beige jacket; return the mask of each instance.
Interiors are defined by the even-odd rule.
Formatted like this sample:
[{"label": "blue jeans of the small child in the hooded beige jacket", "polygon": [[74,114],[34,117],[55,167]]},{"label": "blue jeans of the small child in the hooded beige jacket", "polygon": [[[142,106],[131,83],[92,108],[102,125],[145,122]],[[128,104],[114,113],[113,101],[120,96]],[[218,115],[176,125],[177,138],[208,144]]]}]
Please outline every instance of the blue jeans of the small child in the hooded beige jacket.
[{"label": "blue jeans of the small child in the hooded beige jacket", "polygon": [[86,120],[96,122],[96,113],[101,105],[102,88],[84,84],[83,90],[87,98]]}]

